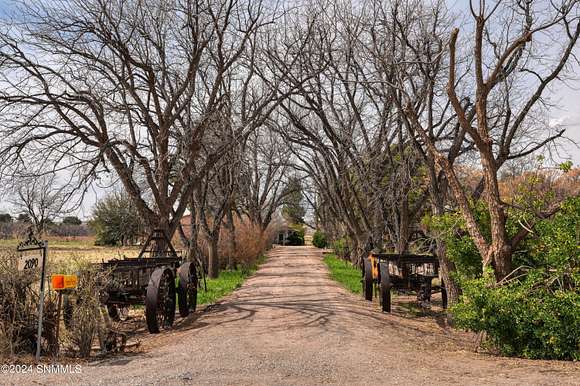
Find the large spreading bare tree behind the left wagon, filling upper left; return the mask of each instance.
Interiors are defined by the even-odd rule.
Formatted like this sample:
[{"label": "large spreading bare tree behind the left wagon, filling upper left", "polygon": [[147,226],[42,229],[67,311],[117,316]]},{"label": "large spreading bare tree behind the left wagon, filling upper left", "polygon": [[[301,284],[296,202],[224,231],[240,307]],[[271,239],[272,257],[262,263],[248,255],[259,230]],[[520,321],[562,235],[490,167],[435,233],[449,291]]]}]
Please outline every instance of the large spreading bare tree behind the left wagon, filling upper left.
[{"label": "large spreading bare tree behind the left wagon, filling upper left", "polygon": [[[195,186],[228,149],[222,143],[199,164],[226,78],[270,20],[261,2],[23,7],[25,21],[4,21],[0,33],[0,177],[18,175],[38,154],[79,188],[114,171],[147,226],[171,236]],[[280,95],[271,83],[263,108]],[[242,122],[229,138],[252,129]]]}]

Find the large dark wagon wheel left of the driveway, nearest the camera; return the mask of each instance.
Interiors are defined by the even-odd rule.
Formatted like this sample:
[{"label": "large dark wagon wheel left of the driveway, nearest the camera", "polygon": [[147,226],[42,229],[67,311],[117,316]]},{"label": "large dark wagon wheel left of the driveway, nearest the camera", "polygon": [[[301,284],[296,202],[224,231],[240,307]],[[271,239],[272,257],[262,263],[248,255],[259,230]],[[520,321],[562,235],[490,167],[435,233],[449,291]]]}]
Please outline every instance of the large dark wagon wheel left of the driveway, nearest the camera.
[{"label": "large dark wagon wheel left of the driveway, nearest the camera", "polygon": [[145,319],[152,334],[168,328],[175,319],[175,277],[169,268],[157,268],[149,278],[145,297]]}]

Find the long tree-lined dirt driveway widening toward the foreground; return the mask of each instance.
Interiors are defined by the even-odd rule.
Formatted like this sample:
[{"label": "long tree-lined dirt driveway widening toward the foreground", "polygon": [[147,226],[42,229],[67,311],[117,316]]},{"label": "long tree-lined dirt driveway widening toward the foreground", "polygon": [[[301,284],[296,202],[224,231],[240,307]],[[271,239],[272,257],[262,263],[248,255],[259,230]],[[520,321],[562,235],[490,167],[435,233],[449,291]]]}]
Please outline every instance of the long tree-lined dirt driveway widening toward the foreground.
[{"label": "long tree-lined dirt driveway widening toward the foreground", "polygon": [[[400,310],[400,308],[399,308]],[[405,316],[407,315],[407,316]],[[472,352],[431,317],[382,314],[328,278],[313,247],[278,247],[239,290],[80,374],[0,384],[580,384],[580,364]]]}]

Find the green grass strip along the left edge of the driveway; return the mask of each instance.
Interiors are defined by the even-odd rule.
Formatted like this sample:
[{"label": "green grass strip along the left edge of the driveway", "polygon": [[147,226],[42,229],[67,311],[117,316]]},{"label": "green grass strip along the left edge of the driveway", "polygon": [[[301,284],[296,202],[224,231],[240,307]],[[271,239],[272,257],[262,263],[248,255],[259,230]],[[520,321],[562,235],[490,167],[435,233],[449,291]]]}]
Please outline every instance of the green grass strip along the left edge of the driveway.
[{"label": "green grass strip along the left edge of the driveway", "polygon": [[217,279],[207,279],[207,291],[202,289],[198,293],[197,302],[199,304],[212,304],[229,295],[244,283],[248,276],[258,269],[258,266],[266,260],[265,256],[258,259],[256,265],[250,269],[236,269],[221,271]]}]

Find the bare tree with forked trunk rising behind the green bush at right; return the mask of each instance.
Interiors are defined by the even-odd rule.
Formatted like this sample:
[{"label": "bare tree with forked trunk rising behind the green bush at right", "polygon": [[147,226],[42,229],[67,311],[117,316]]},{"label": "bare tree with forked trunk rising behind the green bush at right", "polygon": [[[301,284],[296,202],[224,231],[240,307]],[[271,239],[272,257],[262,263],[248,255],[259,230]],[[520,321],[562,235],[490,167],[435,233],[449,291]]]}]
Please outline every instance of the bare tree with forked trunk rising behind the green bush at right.
[{"label": "bare tree with forked trunk rising behind the green bush at right", "polygon": [[[572,57],[572,50],[580,35],[578,2],[562,1],[559,4],[547,5],[543,2],[527,1],[516,2],[513,6],[497,2],[491,8],[486,8],[482,3],[477,11],[472,4],[471,12],[475,20],[473,72],[476,90],[473,109],[466,108],[456,92],[458,29],[451,33],[449,43],[447,95],[461,130],[473,141],[482,165],[481,186],[491,219],[490,241],[486,240],[481,225],[476,221],[473,208],[469,204],[469,196],[461,186],[452,163],[435,146],[427,128],[419,122],[412,103],[407,101],[404,108],[413,124],[413,130],[420,135],[429,155],[445,172],[469,234],[482,256],[483,267],[493,266],[496,277],[501,279],[511,272],[512,253],[528,230],[522,229],[515,236],[508,237],[505,204],[499,194],[498,171],[506,160],[530,154],[562,135],[562,132],[554,135],[547,133],[541,140],[524,142],[524,147],[519,149],[516,143],[522,132],[529,129],[531,123],[528,118],[532,116],[532,109],[541,103],[546,87],[558,79]],[[520,20],[521,29],[512,31],[506,27],[500,30],[499,36],[494,36],[490,29],[490,20],[494,14],[501,15],[502,12],[507,13],[512,20]],[[533,49],[533,37],[546,31],[561,38],[559,46],[556,46],[559,48],[552,47],[557,51],[550,52],[548,57],[538,56]],[[492,48],[491,57],[484,52],[485,44]],[[546,62],[549,64],[544,64]],[[536,82],[531,83],[533,86],[526,83],[527,92],[523,98],[512,98],[515,84],[526,81],[520,74],[530,73]],[[500,113],[497,106],[490,103],[494,92],[500,95],[500,98],[495,98],[496,101],[505,102]],[[514,100],[519,103],[516,105]],[[475,118],[475,126],[472,117]],[[494,130],[497,128],[499,130]]]}]

